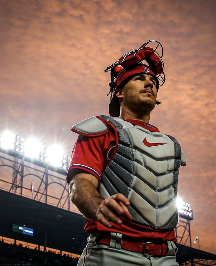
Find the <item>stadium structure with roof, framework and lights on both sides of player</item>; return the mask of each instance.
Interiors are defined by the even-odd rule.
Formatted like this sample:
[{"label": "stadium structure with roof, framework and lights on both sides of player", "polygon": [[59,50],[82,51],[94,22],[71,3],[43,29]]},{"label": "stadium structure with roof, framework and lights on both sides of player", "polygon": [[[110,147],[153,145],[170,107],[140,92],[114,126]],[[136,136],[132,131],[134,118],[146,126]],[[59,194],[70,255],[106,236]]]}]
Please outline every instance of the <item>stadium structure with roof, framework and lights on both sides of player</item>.
[{"label": "stadium structure with roof, framework and lights on both sides of player", "polygon": [[[64,154],[61,162],[51,165],[44,148],[30,158],[24,152],[23,139],[18,136],[14,135],[9,141],[9,148],[2,142],[1,138],[0,236],[14,239],[14,244],[1,241],[0,264],[12,265],[14,254],[19,254],[16,255],[19,265],[76,265],[78,259],[61,255],[62,251],[80,255],[88,237],[83,229],[85,218],[69,201],[66,173],[70,158]],[[178,263],[185,266],[216,265],[215,254],[192,248],[192,210],[187,202],[183,202],[182,208],[176,228]],[[35,244],[38,249],[16,245],[17,240]],[[12,246],[13,252],[10,253]],[[43,252],[39,251],[40,246],[43,246]],[[60,254],[47,252],[47,247],[59,250]],[[7,258],[6,253],[11,254],[11,258]],[[22,254],[25,254],[25,261],[23,258],[19,261]],[[31,262],[26,254],[31,257]]]}]

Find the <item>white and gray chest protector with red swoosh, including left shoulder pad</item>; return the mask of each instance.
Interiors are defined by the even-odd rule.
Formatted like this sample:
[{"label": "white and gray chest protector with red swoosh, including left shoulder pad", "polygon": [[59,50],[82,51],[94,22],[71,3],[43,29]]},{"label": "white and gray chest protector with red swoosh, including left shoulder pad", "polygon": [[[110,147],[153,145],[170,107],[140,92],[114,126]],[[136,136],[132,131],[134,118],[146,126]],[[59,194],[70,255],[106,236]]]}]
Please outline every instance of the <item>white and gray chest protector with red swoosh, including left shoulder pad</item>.
[{"label": "white and gray chest protector with red swoosh, including left shoulder pad", "polygon": [[[122,193],[130,201],[128,210],[134,222],[155,229],[176,227],[178,168],[181,160],[186,164],[178,141],[120,118],[100,117],[113,124],[118,132],[117,151],[101,177],[101,197]],[[96,121],[95,117],[90,119],[91,123],[86,119],[73,129],[85,135],[106,130],[102,121]],[[95,130],[94,126],[97,127]]]}]

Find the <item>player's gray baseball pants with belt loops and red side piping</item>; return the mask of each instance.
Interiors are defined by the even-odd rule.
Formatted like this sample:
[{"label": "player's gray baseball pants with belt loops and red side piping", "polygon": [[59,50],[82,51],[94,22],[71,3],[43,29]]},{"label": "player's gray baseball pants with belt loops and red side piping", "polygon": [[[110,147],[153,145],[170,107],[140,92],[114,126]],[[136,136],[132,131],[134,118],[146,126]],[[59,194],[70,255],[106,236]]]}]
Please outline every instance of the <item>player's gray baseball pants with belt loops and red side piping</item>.
[{"label": "player's gray baseball pants with belt loops and red side piping", "polygon": [[176,246],[168,241],[168,254],[164,257],[145,256],[142,253],[121,249],[122,234],[111,233],[110,245],[96,244],[98,234],[88,237],[88,244],[77,266],[179,266],[175,261]]}]

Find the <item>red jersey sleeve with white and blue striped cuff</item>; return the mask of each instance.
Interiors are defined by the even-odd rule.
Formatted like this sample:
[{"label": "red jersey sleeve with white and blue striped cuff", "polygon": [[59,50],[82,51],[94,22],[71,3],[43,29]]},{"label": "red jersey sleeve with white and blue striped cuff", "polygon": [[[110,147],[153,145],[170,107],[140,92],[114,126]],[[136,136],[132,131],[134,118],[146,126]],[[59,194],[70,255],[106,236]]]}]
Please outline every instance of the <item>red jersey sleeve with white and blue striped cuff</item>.
[{"label": "red jersey sleeve with white and blue striped cuff", "polygon": [[71,154],[70,167],[67,172],[68,184],[77,174],[77,170],[92,174],[100,182],[103,170],[113,157],[110,155],[112,147],[115,147],[115,135],[112,131],[97,137],[79,135]]}]

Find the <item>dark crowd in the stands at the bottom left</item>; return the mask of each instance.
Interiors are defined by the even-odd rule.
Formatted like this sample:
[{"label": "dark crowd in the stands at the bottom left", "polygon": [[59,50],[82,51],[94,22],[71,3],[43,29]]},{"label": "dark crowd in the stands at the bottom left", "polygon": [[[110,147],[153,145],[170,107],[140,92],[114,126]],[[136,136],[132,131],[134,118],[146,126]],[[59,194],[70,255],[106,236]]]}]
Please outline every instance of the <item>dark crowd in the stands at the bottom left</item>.
[{"label": "dark crowd in the stands at the bottom left", "polygon": [[0,240],[0,266],[76,266],[77,262],[77,258],[66,254],[62,256],[52,251],[39,251]]}]

